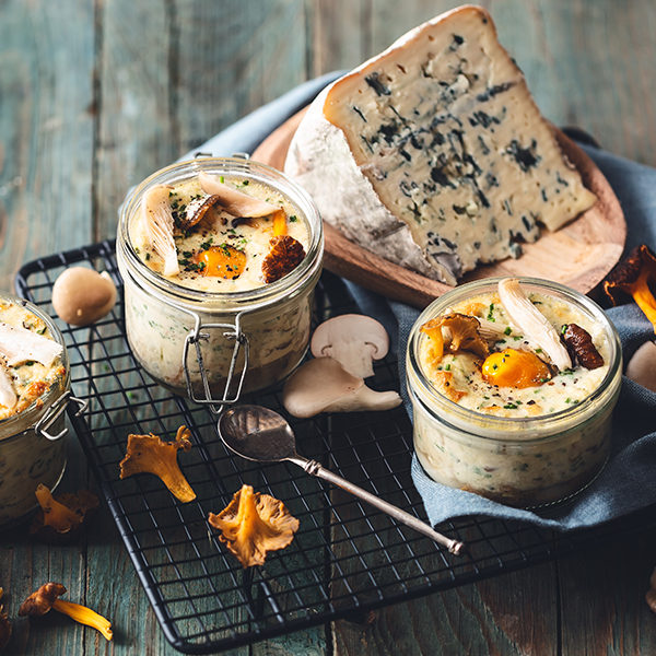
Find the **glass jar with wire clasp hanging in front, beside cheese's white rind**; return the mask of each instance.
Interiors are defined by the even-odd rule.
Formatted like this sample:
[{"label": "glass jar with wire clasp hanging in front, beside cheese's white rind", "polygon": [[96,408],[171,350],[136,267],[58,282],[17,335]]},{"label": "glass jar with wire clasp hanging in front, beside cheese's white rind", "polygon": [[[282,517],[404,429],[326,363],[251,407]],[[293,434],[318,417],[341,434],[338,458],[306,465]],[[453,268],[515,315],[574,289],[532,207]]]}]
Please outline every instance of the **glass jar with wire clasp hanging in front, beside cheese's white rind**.
[{"label": "glass jar with wire clasp hanging in front, beside cheese's white rind", "polygon": [[[154,185],[175,185],[200,172],[238,176],[282,195],[307,225],[305,259],[276,282],[238,292],[188,289],[152,271],[138,257],[129,231],[142,198]],[[154,173],[121,208],[116,250],[132,353],[175,394],[218,411],[218,405],[236,401],[242,390],[283,379],[303,360],[321,273],[321,219],[309,196],[274,168],[239,157],[199,157]]]}]

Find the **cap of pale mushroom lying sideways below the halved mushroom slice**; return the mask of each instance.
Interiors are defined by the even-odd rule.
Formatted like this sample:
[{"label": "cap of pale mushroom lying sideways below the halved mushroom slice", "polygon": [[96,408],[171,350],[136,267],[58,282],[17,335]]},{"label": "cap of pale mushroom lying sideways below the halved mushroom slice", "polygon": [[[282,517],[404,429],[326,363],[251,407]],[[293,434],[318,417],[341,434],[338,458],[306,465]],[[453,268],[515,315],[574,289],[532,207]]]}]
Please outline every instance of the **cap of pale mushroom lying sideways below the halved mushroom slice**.
[{"label": "cap of pale mushroom lying sideways below the halved mushroom slice", "polygon": [[286,380],[282,403],[294,417],[314,417],[339,398],[364,385],[332,358],[316,358],[301,365]]}]

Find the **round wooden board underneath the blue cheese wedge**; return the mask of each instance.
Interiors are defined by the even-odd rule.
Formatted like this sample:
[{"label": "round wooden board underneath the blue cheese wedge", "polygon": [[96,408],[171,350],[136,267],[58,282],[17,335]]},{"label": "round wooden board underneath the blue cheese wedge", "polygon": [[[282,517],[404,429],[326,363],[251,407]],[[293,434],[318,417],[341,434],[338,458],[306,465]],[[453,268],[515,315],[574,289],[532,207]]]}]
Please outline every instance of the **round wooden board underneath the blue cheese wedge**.
[{"label": "round wooden board underneath the blue cheese wedge", "polygon": [[[305,109],[298,112],[253,153],[253,159],[282,169],[286,152]],[[617,196],[595,163],[563,132],[554,128],[562,150],[578,168],[585,186],[595,192],[597,203],[575,221],[523,244],[518,259],[506,259],[469,271],[462,282],[491,276],[532,276],[566,284],[579,292],[593,292],[618,262],[626,237],[626,223]],[[325,267],[389,298],[425,307],[449,285],[431,280],[362,248],[324,222]]]}]

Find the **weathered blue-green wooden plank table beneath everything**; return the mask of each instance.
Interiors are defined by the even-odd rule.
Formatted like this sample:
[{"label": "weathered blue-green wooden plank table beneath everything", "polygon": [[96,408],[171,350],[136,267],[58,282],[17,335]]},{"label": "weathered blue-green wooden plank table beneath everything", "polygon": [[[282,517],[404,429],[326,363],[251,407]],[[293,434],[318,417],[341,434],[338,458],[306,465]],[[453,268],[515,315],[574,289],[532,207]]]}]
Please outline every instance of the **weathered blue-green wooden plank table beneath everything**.
[{"label": "weathered blue-green wooden plank table beneath everything", "polygon": [[[656,164],[651,0],[490,0],[542,112]],[[4,0],[0,3],[0,276],[114,235],[126,190],[249,110],[350,68],[444,0]],[[65,489],[93,488],[71,441]],[[654,654],[643,597],[656,532],[244,647],[234,654]],[[15,618],[40,583],[110,618],[115,641],[63,617],[14,621],[7,653],[173,654],[109,514],[79,543],[0,537]]]}]

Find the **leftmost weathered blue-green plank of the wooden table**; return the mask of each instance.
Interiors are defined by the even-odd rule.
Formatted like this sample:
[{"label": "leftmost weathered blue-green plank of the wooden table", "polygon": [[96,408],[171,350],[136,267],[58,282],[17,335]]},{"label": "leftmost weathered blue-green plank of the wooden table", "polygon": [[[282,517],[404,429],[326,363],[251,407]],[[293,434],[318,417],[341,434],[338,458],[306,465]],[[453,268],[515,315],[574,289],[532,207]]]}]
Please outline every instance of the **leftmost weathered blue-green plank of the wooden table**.
[{"label": "leftmost weathered blue-green plank of the wooden table", "polygon": [[[0,20],[0,284],[13,289],[25,260],[91,238],[93,119],[93,11],[62,0],[4,2]],[[62,47],[66,45],[66,47]],[[69,441],[71,465],[62,489],[87,487],[79,448]],[[22,525],[3,531],[0,581],[8,610],[36,587],[57,579],[73,601],[86,599],[86,544],[48,547]],[[84,629],[63,616],[14,621],[16,654],[79,654]]]}]

